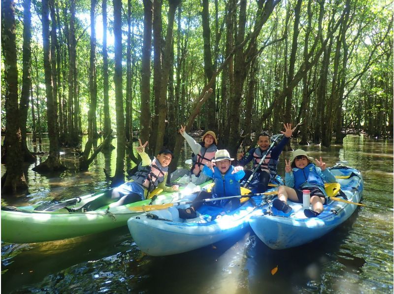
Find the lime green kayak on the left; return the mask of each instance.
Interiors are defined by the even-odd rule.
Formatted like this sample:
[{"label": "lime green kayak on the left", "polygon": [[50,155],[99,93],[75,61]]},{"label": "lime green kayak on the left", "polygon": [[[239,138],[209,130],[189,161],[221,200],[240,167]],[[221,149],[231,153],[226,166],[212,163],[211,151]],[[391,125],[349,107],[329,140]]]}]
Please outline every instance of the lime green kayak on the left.
[{"label": "lime green kayak on the left", "polygon": [[[205,183],[200,187],[203,185]],[[1,240],[35,243],[96,234],[126,226],[130,217],[141,214],[132,211],[132,206],[169,203],[191,193],[190,189],[180,188],[179,192],[161,193],[154,201],[149,199],[116,207],[109,205],[109,208],[106,205],[94,211],[82,212],[82,206],[105,196],[108,191],[50,205],[1,207]]]}]

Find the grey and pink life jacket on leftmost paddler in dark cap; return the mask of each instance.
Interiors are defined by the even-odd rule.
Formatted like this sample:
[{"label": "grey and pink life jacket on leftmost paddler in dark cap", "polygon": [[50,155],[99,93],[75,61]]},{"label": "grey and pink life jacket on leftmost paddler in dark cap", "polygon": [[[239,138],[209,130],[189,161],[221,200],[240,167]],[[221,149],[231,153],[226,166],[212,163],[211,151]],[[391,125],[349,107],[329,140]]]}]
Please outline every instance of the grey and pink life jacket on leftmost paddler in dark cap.
[{"label": "grey and pink life jacket on leftmost paddler in dark cap", "polygon": [[150,165],[142,166],[142,163],[140,163],[138,171],[134,176],[131,176],[131,179],[147,188],[150,193],[157,188],[159,183],[164,181],[164,176],[167,172],[168,167],[162,167],[159,160],[155,157]]}]

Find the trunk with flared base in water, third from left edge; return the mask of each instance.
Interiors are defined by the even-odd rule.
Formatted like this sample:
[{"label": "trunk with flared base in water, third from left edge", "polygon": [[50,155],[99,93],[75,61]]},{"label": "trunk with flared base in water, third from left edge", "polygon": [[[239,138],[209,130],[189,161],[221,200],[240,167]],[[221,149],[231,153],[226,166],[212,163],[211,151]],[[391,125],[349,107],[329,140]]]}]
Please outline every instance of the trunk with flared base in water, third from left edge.
[{"label": "trunk with flared base in water, third from left edge", "polygon": [[33,168],[35,172],[47,173],[53,171],[61,171],[66,168],[60,164],[59,154],[59,133],[56,129],[57,113],[56,102],[54,101],[52,89],[52,68],[50,60],[50,44],[49,44],[49,0],[42,1],[41,8],[41,22],[42,22],[42,44],[44,51],[44,74],[45,74],[45,93],[46,93],[46,107],[48,118],[48,137],[49,137],[49,156]]}]

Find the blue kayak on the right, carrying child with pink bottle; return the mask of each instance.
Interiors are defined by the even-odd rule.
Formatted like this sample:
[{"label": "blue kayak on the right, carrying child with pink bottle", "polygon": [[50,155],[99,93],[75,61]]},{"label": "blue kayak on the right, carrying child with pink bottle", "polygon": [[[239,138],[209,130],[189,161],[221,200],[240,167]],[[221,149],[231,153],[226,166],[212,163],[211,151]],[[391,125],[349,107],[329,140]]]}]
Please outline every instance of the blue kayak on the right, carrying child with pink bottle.
[{"label": "blue kayak on the right, carrying child with pink bottle", "polygon": [[[361,173],[344,166],[334,167],[330,171],[337,178],[344,193],[336,197],[359,203],[363,189]],[[358,207],[330,200],[320,215],[306,218],[302,204],[291,201],[288,201],[288,204],[293,208],[290,216],[278,215],[280,213],[277,213],[275,208],[265,205],[249,220],[256,235],[272,249],[296,247],[318,239],[342,224]]]}]

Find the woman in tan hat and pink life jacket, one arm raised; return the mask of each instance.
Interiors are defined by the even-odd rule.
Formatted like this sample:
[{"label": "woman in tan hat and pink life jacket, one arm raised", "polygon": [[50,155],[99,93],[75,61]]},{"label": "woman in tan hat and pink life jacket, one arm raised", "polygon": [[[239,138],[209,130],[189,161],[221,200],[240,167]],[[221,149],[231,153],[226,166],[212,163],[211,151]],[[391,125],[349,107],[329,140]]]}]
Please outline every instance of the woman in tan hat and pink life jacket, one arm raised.
[{"label": "woman in tan hat and pink life jacket, one arm raised", "polygon": [[216,134],[213,131],[207,131],[201,137],[202,141],[197,143],[196,140],[186,133],[186,126],[181,125],[179,133],[185,138],[186,142],[192,148],[193,153],[196,154],[193,157],[191,180],[196,185],[202,184],[209,180],[209,177],[201,174],[201,171],[204,165],[215,157],[216,145],[218,144]]}]

